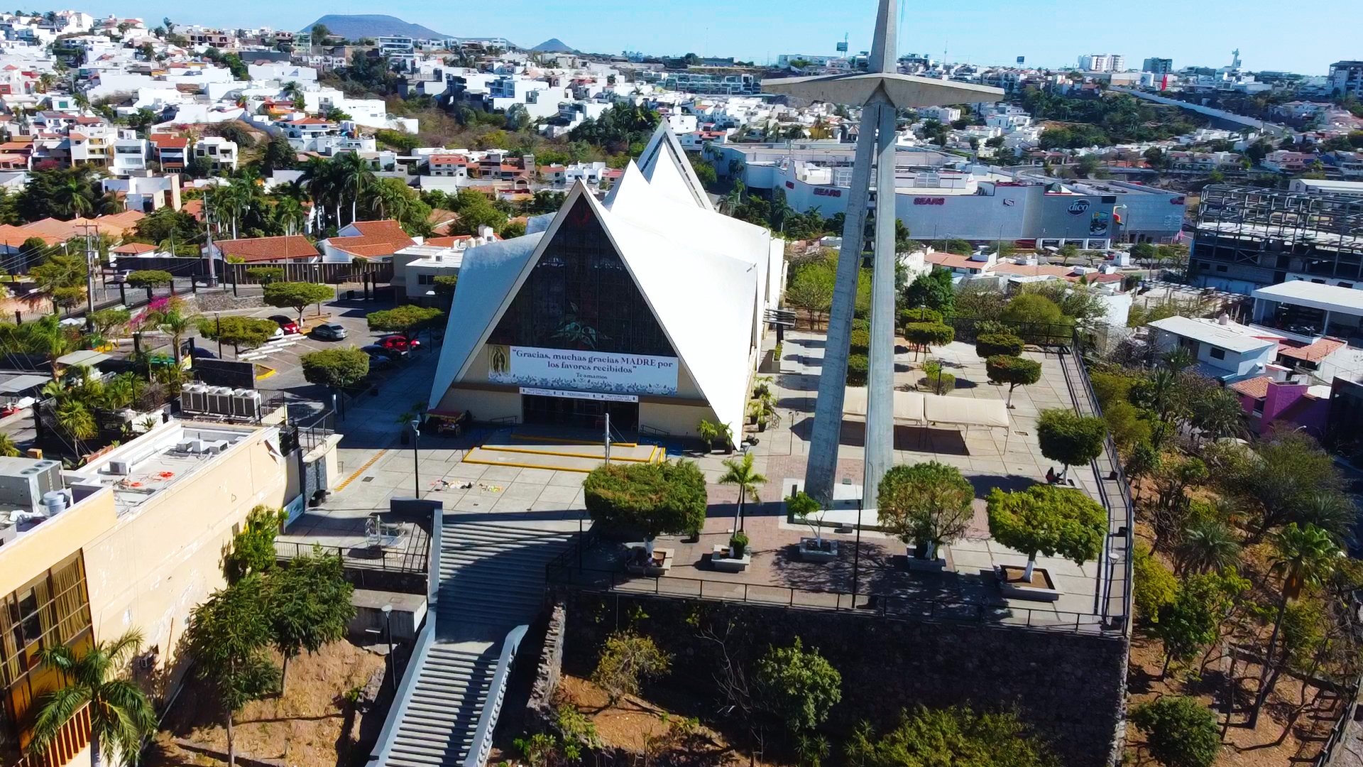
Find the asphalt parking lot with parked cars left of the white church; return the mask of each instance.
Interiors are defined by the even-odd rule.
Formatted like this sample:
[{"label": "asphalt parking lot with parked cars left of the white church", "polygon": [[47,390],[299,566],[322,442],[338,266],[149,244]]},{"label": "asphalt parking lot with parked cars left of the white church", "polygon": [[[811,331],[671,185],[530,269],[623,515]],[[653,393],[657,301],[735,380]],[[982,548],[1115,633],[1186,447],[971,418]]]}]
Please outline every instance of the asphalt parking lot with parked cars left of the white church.
[{"label": "asphalt parking lot with parked cars left of the white church", "polygon": [[[308,333],[304,334],[290,334],[286,336],[284,341],[275,341],[267,344],[260,353],[251,353],[247,349],[241,351],[241,358],[251,359],[258,366],[256,368],[256,386],[262,392],[286,392],[292,396],[307,397],[315,400],[324,400],[327,393],[320,386],[313,386],[303,378],[303,366],[300,364],[300,358],[308,352],[316,352],[323,349],[334,348],[348,348],[348,347],[365,347],[373,344],[379,337],[388,333],[376,333],[369,330],[365,317],[373,311],[380,311],[384,308],[393,308],[391,303],[382,302],[364,302],[364,300],[341,300],[334,303],[322,304],[322,317],[324,322],[337,323],[345,328],[346,338],[343,341],[330,341],[315,338]],[[271,315],[284,314],[286,317],[296,317],[293,310],[289,308],[274,308],[263,307],[254,308],[249,311],[233,311],[230,314],[240,317],[256,317],[269,318]],[[316,314],[316,306],[309,306],[304,311],[304,325],[312,328],[319,322]],[[439,333],[438,333],[439,336]],[[427,355],[433,353],[429,348],[429,338],[427,333],[421,333],[421,345],[408,355],[406,359],[398,359],[393,366],[386,368],[378,368],[371,374],[378,379],[386,379],[406,367],[410,367],[416,362],[424,359]],[[195,344],[199,348],[209,349],[213,353],[218,353],[218,343],[209,341],[206,338],[195,334]],[[229,344],[222,344],[222,359],[239,359],[233,355],[232,347]],[[269,370],[266,370],[269,368]]]}]

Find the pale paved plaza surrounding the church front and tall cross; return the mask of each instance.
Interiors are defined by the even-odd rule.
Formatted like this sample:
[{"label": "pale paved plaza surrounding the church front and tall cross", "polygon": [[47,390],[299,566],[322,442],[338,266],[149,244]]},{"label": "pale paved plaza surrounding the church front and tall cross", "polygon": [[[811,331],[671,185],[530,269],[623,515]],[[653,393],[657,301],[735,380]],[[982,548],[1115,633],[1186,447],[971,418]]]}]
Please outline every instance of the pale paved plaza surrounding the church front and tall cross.
[{"label": "pale paved plaza surrounding the church front and tall cross", "polygon": [[[667,577],[642,579],[617,587],[673,592],[748,598],[765,600],[829,602],[851,606],[853,568],[856,591],[898,599],[902,609],[921,603],[973,603],[1002,609],[1002,620],[1033,624],[1093,624],[1092,617],[1097,565],[1082,566],[1056,558],[1039,557],[1063,592],[1054,603],[1005,600],[992,583],[995,565],[1022,565],[1026,555],[1009,550],[988,538],[984,497],[994,487],[1017,490],[1044,482],[1048,468],[1059,471],[1040,453],[1036,419],[1040,411],[1073,407],[1059,358],[1055,353],[1028,351],[1026,356],[1043,366],[1041,381],[1021,386],[1013,394],[1009,411],[1011,426],[1005,429],[972,427],[897,427],[894,460],[912,464],[936,460],[954,465],[976,489],[976,519],[965,539],[950,545],[947,555],[953,572],[919,573],[905,566],[905,547],[883,534],[863,530],[860,550],[856,536],[822,528],[826,538],[840,540],[841,555],[830,565],[799,561],[796,547],[811,528],[788,523],[781,498],[792,484],[803,480],[808,454],[808,435],[814,418],[814,396],[822,362],[821,334],[789,333],[782,347],[781,373],[773,375],[780,422],[758,437],[748,448],[755,468],[767,478],[761,498],[747,506],[743,528],[751,539],[752,565],[743,573],[716,572],[707,561],[714,545],[728,542],[733,528],[737,489],[718,484],[724,474],[724,454],[687,456],[696,460],[709,480],[709,519],[699,540],[684,542],[677,536],[660,538],[658,547],[676,550],[675,565]],[[984,360],[970,344],[953,343],[934,348],[928,355],[908,351],[901,340],[895,355],[895,386],[909,389],[923,378],[924,359],[940,360],[957,378],[953,397],[1005,399],[1006,388],[988,384]],[[418,449],[401,442],[398,414],[428,396],[436,355],[416,363],[403,377],[387,384],[379,397],[361,397],[350,404],[346,420],[337,424],[345,434],[341,442],[341,487],[320,508],[308,509],[286,531],[284,540],[316,540],[327,546],[357,546],[364,540],[364,523],[373,512],[388,508],[390,498],[412,497],[420,487],[424,498],[440,500],[446,513],[489,523],[536,524],[581,520],[586,515],[581,471],[555,471],[518,465],[465,463],[469,450],[480,444],[507,437],[508,429],[476,430],[463,437],[423,434]],[[369,400],[369,401],[365,401]],[[861,424],[848,419],[844,424],[838,454],[840,494],[855,494],[861,482]],[[673,445],[671,453],[676,454]],[[1088,467],[1075,467],[1070,478],[1077,487],[1096,495],[1097,478]],[[844,515],[846,516],[846,515]],[[855,512],[852,512],[855,519]],[[841,520],[849,521],[849,520]],[[874,524],[872,512],[863,523]],[[587,523],[590,524],[590,523]],[[586,569],[619,570],[622,551],[601,547],[589,554]],[[623,575],[623,573],[622,573]],[[624,579],[617,577],[616,581]],[[699,584],[698,581],[706,581]],[[729,590],[720,592],[716,590]],[[744,590],[739,596],[735,590]],[[1011,610],[1011,611],[1010,611]],[[1050,620],[1040,618],[1050,613]],[[1082,616],[1082,617],[1081,617]]]}]

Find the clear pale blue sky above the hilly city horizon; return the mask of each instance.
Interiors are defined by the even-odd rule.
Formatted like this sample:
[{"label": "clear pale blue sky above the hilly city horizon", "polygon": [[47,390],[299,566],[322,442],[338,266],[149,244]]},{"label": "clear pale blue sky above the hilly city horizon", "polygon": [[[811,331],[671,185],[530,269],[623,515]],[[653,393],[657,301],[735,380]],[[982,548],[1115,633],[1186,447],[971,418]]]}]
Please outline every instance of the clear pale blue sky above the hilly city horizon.
[{"label": "clear pale blue sky above the hilly city horizon", "polygon": [[[1225,66],[1240,49],[1251,70],[1323,75],[1330,63],[1363,59],[1358,0],[1317,0],[1303,5],[1145,0],[1096,4],[1059,0],[979,0],[904,4],[900,52],[930,52],[983,64],[1074,64],[1081,53],[1122,53],[1139,67],[1148,56],[1186,64]],[[851,34],[852,50],[871,46],[874,0],[499,0],[431,3],[356,0],[278,4],[267,0],[192,3],[176,0],[98,0],[91,14],[169,15],[179,23],[300,29],[323,14],[391,14],[446,34],[502,35],[519,45],[557,37],[590,52],[706,53],[765,61],[780,53],[833,53]],[[154,26],[154,25],[153,25]]]}]

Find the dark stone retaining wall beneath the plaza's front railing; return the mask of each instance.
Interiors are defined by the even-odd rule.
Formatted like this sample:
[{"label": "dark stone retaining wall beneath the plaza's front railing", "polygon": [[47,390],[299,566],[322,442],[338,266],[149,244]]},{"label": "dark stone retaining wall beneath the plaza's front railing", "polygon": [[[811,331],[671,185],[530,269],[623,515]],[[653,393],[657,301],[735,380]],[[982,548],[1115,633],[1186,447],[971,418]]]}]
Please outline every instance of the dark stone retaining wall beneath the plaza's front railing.
[{"label": "dark stone retaining wall beneath the plaza's front railing", "polygon": [[845,737],[861,721],[890,727],[900,711],[969,703],[1017,708],[1069,767],[1109,764],[1124,733],[1127,641],[1122,637],[951,622],[910,622],[830,610],[563,590],[563,662],[587,676],[601,643],[631,626],[672,654],[667,684],[717,699],[720,646],[752,669],[769,646],[799,636],[842,674],[826,725]]}]

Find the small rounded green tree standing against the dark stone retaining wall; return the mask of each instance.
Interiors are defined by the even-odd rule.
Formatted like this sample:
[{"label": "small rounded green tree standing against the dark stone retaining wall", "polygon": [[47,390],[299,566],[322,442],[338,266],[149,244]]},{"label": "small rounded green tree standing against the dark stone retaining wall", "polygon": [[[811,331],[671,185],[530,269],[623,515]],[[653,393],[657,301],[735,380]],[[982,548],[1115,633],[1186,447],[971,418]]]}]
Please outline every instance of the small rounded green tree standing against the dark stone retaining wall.
[{"label": "small rounded green tree standing against the dark stone retaining wall", "polygon": [[842,700],[841,686],[842,674],[818,648],[804,650],[799,636],[791,647],[767,647],[758,659],[758,700],[792,733],[822,725]]}]

